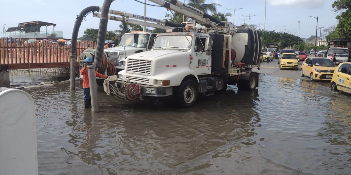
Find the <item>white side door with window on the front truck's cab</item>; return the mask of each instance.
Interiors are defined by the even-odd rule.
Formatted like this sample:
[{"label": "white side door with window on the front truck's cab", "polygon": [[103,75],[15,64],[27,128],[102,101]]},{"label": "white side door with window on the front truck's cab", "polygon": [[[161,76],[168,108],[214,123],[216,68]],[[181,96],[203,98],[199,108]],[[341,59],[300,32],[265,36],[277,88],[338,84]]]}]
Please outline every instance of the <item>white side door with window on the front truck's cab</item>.
[{"label": "white side door with window on the front truck's cab", "polygon": [[206,75],[211,73],[211,55],[206,55],[208,37],[196,37],[194,50],[193,50],[193,61],[191,63],[192,69],[197,75]]}]

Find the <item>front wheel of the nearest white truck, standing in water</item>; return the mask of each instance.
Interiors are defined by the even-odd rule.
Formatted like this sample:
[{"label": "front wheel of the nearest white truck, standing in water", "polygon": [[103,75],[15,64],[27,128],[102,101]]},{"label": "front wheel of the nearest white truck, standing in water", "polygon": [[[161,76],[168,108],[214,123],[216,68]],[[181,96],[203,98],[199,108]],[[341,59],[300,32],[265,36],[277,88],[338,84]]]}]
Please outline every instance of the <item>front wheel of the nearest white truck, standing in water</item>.
[{"label": "front wheel of the nearest white truck, standing in water", "polygon": [[185,80],[179,87],[176,99],[180,107],[191,107],[197,98],[196,83],[192,79]]}]

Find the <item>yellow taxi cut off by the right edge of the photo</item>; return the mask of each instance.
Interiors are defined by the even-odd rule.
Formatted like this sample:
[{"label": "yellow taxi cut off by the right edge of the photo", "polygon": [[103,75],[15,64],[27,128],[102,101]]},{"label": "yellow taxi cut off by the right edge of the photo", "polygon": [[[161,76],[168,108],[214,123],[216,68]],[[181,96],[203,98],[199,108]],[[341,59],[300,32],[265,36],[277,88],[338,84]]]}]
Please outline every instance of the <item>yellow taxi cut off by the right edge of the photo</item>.
[{"label": "yellow taxi cut off by the right edge of the photo", "polygon": [[351,62],[340,63],[330,82],[331,91],[351,93]]}]

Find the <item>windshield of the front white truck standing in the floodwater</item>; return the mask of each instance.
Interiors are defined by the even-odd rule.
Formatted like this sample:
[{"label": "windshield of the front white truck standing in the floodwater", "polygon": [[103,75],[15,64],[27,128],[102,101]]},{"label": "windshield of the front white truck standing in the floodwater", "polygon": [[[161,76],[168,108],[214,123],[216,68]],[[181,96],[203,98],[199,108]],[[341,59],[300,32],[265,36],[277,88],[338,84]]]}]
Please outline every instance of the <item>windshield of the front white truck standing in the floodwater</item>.
[{"label": "windshield of the front white truck standing in the floodwater", "polygon": [[192,37],[190,35],[157,36],[153,49],[179,49],[189,50]]}]

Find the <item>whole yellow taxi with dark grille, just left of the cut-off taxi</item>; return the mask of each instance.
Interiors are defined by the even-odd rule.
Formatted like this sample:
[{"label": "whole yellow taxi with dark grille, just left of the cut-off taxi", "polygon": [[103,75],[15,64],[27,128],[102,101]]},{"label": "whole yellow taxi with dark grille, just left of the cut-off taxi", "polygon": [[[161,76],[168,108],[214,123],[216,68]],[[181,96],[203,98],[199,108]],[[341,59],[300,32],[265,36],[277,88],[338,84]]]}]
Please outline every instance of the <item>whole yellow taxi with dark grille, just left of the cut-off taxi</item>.
[{"label": "whole yellow taxi with dark grille, just left of the cut-off taxi", "polygon": [[301,65],[301,76],[313,80],[331,80],[335,64],[329,58],[307,58]]}]

